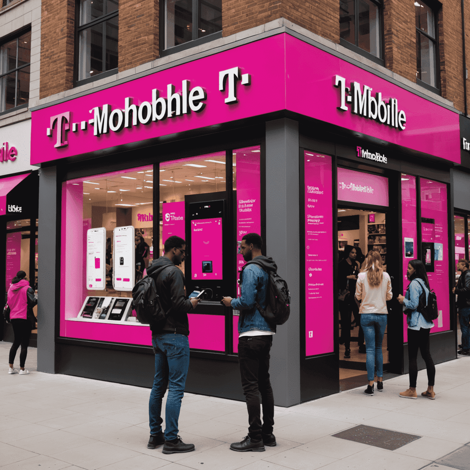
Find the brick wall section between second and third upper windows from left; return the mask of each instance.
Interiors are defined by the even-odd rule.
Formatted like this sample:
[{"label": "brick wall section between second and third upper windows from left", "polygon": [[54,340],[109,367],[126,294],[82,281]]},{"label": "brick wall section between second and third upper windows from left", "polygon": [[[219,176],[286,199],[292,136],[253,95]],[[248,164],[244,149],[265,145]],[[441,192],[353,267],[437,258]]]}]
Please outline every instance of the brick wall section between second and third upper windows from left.
[{"label": "brick wall section between second and third upper windows from left", "polygon": [[119,71],[158,57],[158,0],[119,1]]}]

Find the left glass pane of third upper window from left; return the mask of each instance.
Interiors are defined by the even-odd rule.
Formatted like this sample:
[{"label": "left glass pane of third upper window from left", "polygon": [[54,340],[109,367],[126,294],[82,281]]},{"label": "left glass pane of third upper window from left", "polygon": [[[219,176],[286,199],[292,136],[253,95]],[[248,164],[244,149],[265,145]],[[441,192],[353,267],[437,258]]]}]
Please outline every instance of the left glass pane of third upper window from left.
[{"label": "left glass pane of third upper window from left", "polygon": [[165,49],[192,40],[191,0],[165,0]]}]

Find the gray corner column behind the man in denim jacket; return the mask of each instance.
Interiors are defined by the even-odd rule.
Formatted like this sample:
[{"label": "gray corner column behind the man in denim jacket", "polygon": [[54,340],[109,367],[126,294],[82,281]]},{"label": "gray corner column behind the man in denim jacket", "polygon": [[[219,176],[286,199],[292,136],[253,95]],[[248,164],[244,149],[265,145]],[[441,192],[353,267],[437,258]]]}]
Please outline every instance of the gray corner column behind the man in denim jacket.
[{"label": "gray corner column behind the man in denim jacket", "polygon": [[266,255],[289,284],[290,318],[277,328],[271,349],[274,403],[300,403],[298,122],[266,122]]}]

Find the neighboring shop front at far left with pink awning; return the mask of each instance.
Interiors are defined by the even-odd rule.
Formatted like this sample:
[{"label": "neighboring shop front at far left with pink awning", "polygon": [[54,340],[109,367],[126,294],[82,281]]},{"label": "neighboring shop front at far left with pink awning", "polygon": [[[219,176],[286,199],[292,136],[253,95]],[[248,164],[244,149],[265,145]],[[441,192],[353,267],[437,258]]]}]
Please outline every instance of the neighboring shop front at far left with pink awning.
[{"label": "neighboring shop front at far left with pink awning", "polygon": [[[38,285],[38,196],[37,168],[30,164],[31,120],[0,128],[0,266],[5,298],[11,280],[23,270],[30,285]],[[33,309],[37,315],[37,307]],[[1,321],[0,338],[13,341],[11,325]],[[37,330],[31,334],[35,346]]]}]

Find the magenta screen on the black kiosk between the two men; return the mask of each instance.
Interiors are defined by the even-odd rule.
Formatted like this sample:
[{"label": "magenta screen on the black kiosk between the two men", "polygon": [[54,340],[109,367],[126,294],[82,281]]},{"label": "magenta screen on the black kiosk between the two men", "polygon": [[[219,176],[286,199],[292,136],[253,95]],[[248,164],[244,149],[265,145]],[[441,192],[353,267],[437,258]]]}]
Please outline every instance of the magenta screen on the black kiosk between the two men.
[{"label": "magenta screen on the black kiosk between the two men", "polygon": [[191,220],[191,279],[222,279],[222,218]]}]

